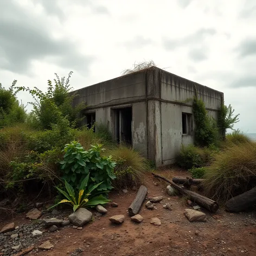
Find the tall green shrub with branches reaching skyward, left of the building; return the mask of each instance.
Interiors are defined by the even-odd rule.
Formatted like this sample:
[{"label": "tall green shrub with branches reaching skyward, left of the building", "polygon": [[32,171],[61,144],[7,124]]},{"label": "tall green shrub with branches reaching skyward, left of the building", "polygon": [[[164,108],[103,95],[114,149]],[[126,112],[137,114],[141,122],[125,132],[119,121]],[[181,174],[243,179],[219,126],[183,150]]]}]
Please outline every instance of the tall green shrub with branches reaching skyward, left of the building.
[{"label": "tall green shrub with branches reaching skyward, left of the building", "polygon": [[40,129],[52,129],[62,118],[66,118],[71,125],[79,125],[80,112],[85,108],[85,104],[79,104],[76,107],[72,106],[75,93],[71,94],[72,87],[69,85],[69,80],[73,72],[69,72],[68,78],[59,78],[57,74],[52,81],[48,80],[47,92],[42,92],[39,88],[33,89],[18,87],[18,91],[28,91],[34,102],[33,111],[28,117],[28,124],[32,127],[40,127]]}]

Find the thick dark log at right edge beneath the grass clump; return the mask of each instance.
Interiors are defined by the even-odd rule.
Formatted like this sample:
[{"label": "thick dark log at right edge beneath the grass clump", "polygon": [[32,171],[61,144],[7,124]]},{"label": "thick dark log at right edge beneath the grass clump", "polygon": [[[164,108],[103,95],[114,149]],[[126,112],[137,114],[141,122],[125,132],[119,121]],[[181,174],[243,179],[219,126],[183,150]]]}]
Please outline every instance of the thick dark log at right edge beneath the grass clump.
[{"label": "thick dark log at right edge beneath the grass clump", "polygon": [[225,204],[225,209],[227,212],[238,213],[253,207],[254,204],[256,204],[256,187],[229,199]]}]

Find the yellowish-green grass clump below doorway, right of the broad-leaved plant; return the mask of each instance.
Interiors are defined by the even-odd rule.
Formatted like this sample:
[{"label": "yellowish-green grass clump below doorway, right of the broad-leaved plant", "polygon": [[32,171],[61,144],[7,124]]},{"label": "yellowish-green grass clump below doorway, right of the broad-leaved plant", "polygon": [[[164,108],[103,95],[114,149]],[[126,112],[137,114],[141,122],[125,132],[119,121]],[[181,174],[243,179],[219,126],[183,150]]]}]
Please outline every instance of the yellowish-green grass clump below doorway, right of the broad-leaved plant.
[{"label": "yellowish-green grass clump below doorway, right of the broad-leaved plant", "polygon": [[150,169],[148,159],[124,145],[110,150],[110,155],[117,163],[114,169],[114,174],[117,176],[113,181],[114,188],[138,187],[143,181],[145,172]]}]

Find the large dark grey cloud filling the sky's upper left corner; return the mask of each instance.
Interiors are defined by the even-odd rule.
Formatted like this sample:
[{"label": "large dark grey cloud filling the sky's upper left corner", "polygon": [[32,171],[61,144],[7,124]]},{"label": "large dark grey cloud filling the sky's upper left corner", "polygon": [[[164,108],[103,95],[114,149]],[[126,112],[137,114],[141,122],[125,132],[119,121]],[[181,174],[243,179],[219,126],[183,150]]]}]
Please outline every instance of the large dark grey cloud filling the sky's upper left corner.
[{"label": "large dark grey cloud filling the sky's upper left corner", "polygon": [[0,2],[0,68],[26,73],[34,60],[86,72],[93,58],[80,54],[68,39],[54,39],[47,23],[12,1]]}]

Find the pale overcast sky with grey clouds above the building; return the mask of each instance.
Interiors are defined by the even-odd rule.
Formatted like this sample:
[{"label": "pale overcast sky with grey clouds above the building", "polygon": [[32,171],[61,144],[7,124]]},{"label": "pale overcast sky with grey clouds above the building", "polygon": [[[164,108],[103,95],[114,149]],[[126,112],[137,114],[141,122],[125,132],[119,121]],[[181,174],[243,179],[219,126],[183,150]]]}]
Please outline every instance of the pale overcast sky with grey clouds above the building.
[{"label": "pale overcast sky with grey clouds above the building", "polygon": [[78,89],[148,60],[224,92],[235,128],[256,133],[256,1],[0,0],[5,87],[45,89],[73,71]]}]

